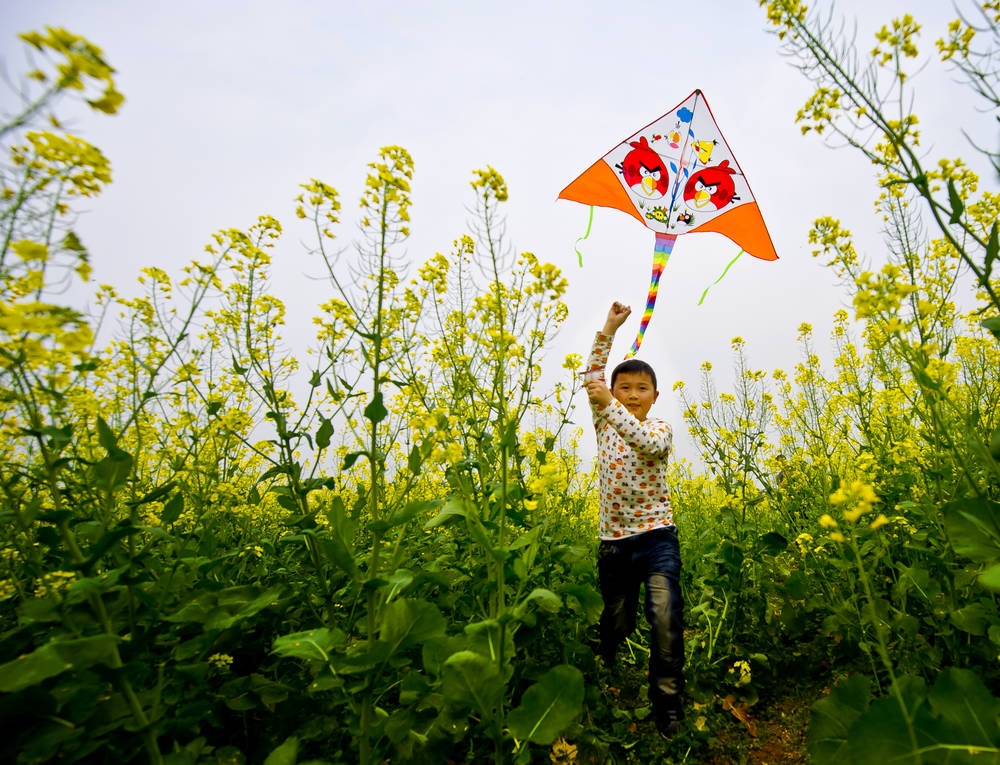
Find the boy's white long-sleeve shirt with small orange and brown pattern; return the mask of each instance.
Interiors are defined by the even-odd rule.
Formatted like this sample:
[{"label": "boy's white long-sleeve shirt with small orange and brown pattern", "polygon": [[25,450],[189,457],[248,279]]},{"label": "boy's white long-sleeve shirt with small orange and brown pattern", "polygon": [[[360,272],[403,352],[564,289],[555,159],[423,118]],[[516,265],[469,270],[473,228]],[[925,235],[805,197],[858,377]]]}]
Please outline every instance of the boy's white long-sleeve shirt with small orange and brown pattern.
[{"label": "boy's white long-sleeve shirt with small orange and brown pattern", "polygon": [[[587,369],[603,371],[614,338],[598,332]],[[600,484],[598,535],[621,539],[674,525],[667,484],[673,432],[663,420],[640,421],[618,399],[603,409],[591,402],[597,431]]]}]

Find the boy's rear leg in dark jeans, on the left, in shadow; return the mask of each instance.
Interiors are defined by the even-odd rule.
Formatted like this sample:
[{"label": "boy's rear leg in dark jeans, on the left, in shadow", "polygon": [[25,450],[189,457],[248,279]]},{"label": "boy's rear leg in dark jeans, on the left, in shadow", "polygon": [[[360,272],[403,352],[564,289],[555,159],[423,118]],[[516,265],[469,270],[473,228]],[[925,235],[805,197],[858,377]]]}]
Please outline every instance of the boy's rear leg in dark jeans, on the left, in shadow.
[{"label": "boy's rear leg in dark jeans, on the left, in shadow", "polygon": [[601,541],[597,550],[597,577],[604,599],[598,651],[610,667],[618,646],[635,629],[639,608],[639,579],[632,565],[632,553],[622,542]]}]

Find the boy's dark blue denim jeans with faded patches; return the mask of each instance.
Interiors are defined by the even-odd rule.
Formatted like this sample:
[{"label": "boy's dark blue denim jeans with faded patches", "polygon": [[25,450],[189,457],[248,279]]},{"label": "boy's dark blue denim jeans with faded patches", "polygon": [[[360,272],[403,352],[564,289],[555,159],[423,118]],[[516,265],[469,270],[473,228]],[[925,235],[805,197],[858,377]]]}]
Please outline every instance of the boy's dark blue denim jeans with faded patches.
[{"label": "boy's dark blue denim jeans with faded patches", "polygon": [[604,598],[600,653],[609,666],[618,646],[635,630],[639,585],[646,585],[649,622],[649,699],[677,704],[684,692],[684,600],[677,529],[655,529],[601,540],[597,574]]}]

